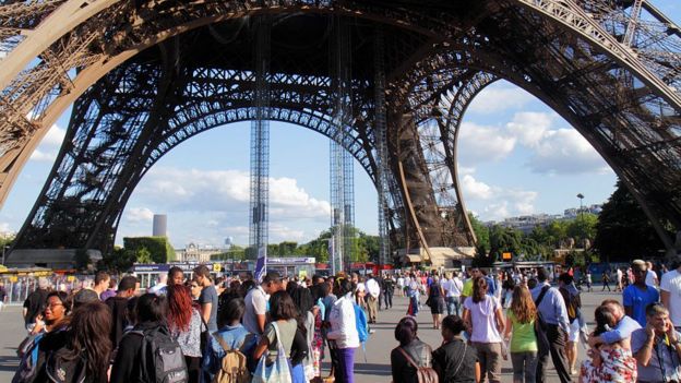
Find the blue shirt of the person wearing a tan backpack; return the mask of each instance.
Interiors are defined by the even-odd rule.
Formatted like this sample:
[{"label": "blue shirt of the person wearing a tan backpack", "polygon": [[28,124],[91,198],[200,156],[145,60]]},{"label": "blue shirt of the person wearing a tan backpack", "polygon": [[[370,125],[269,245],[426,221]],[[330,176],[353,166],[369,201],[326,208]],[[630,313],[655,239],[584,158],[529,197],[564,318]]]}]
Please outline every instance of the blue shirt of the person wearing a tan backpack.
[{"label": "blue shirt of the person wearing a tan backpack", "polygon": [[248,330],[246,330],[246,327],[240,323],[236,326],[225,326],[219,331],[212,333],[211,342],[208,343],[206,352],[204,352],[203,357],[203,370],[210,372],[211,374],[217,373],[217,370],[220,368],[220,360],[223,360],[223,357],[226,354],[219,342],[215,339],[215,336],[219,336],[231,349],[241,349],[243,355],[250,358],[253,349],[255,348],[255,344],[258,343],[258,337],[249,336],[247,338],[247,335],[249,334]]}]

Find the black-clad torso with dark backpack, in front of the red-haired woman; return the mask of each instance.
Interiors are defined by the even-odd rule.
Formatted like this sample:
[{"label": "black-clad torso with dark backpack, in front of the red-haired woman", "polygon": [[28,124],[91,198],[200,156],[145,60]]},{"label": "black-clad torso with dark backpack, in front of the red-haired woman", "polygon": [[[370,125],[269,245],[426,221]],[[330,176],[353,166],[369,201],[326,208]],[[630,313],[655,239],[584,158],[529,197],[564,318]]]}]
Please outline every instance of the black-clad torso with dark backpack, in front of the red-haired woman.
[{"label": "black-clad torso with dark backpack, in front of the red-haired woman", "polygon": [[[129,334],[142,336],[141,378],[143,381],[148,383],[189,382],[182,349],[165,326],[144,332],[133,330]],[[153,364],[150,366],[150,363]]]}]

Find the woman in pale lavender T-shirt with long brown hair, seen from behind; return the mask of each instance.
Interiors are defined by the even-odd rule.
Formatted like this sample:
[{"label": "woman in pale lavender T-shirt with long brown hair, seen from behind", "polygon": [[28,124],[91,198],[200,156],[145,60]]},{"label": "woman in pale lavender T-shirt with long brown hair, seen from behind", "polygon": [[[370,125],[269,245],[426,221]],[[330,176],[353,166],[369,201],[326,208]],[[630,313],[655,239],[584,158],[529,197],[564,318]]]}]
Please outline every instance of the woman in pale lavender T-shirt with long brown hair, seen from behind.
[{"label": "woman in pale lavender T-shirt with long brown hair, seen from behind", "polygon": [[470,332],[470,342],[478,350],[482,374],[487,374],[491,383],[500,382],[504,320],[499,300],[487,295],[483,277],[473,280],[473,292],[464,302],[463,318]]}]

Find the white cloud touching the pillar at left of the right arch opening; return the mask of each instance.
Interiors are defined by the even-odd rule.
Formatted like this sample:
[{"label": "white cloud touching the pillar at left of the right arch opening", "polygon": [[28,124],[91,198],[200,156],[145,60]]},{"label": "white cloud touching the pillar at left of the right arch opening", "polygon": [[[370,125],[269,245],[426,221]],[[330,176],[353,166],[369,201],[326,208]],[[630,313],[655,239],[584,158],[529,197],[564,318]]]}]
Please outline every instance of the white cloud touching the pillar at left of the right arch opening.
[{"label": "white cloud touching the pillar at left of the right arch opening", "polygon": [[513,152],[515,143],[516,137],[509,135],[503,128],[463,122],[458,133],[458,160],[468,167],[500,160]]}]

